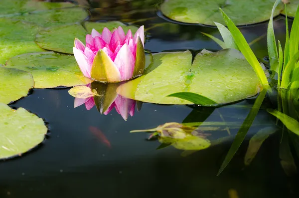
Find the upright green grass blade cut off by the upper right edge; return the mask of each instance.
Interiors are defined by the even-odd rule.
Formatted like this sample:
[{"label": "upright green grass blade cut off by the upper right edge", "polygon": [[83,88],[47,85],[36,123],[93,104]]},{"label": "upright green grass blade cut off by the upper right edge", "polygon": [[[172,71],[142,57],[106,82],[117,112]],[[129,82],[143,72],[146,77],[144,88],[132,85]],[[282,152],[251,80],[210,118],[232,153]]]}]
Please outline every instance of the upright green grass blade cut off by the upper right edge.
[{"label": "upright green grass blade cut off by the upper right edge", "polygon": [[290,34],[290,51],[289,56],[290,59],[295,56],[295,54],[299,51],[299,7],[297,8],[297,12],[295,14],[294,22],[291,28]]}]

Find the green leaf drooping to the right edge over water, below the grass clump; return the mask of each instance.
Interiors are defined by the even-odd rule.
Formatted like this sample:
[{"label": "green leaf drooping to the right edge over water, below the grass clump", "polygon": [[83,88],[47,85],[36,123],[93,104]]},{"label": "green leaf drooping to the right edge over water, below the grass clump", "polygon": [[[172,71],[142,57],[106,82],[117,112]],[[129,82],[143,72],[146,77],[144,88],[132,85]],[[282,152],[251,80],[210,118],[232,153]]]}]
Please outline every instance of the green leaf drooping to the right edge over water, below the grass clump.
[{"label": "green leaf drooping to the right edge over water, below the grass clump", "polygon": [[267,111],[274,115],[275,117],[277,117],[278,119],[280,119],[280,121],[282,121],[282,123],[293,133],[299,135],[299,122],[297,120],[295,120],[294,118],[279,112],[277,110],[273,110],[273,109],[267,109]]}]

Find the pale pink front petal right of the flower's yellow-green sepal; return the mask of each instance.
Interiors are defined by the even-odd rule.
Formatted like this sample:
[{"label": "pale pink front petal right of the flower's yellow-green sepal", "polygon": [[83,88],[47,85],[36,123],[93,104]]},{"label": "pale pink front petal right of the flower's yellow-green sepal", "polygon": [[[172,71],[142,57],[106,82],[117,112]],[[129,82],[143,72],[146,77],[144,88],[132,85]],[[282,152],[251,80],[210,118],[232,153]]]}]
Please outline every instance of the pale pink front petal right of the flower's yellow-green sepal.
[{"label": "pale pink front petal right of the flower's yellow-green sepal", "polygon": [[121,73],[122,80],[129,80],[132,78],[135,60],[127,44],[122,46],[115,57],[114,63]]}]

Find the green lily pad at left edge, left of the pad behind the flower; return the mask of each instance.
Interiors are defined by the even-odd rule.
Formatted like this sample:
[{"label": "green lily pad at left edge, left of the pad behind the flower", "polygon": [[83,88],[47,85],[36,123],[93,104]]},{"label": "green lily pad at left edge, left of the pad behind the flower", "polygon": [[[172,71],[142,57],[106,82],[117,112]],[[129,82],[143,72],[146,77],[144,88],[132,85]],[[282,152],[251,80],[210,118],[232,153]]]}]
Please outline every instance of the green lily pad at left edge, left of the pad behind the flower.
[{"label": "green lily pad at left edge, left of the pad behind the flower", "polygon": [[0,64],[15,55],[44,51],[34,42],[38,26],[11,18],[0,18]]}]

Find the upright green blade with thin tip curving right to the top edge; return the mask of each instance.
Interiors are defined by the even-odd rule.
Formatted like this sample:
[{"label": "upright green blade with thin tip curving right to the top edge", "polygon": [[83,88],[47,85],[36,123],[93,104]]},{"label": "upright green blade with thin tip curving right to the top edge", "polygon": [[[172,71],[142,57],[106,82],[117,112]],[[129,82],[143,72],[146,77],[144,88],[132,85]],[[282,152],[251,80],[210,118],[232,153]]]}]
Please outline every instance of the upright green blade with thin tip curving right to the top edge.
[{"label": "upright green blade with thin tip curving right to the top edge", "polygon": [[274,28],[273,28],[273,14],[279,3],[281,3],[281,0],[276,0],[274,3],[270,21],[268,24],[268,31],[267,31],[267,44],[268,44],[270,66],[271,66],[271,70],[276,71],[277,73],[279,68],[279,60],[278,60],[277,45],[275,40]]}]

